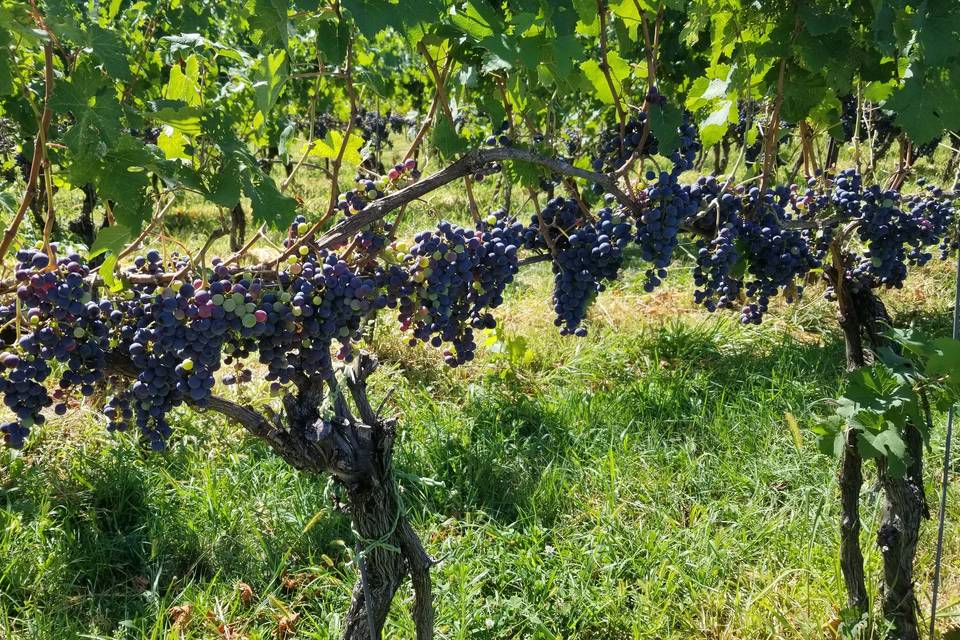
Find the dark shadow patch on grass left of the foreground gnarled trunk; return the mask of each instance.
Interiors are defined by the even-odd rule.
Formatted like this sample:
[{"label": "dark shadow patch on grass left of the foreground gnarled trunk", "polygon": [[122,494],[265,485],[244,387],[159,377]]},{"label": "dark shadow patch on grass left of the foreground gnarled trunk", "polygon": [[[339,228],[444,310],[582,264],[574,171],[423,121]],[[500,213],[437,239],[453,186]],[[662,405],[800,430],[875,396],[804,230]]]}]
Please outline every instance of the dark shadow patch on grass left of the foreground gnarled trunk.
[{"label": "dark shadow patch on grass left of the foreground gnarled trunk", "polygon": [[[272,487],[264,486],[269,478],[251,471],[272,456],[269,449],[249,440],[243,447],[250,464],[222,472],[231,479],[247,473],[247,482],[238,483],[238,495],[225,498],[228,504],[219,514],[210,512],[213,507],[204,509],[204,502],[216,496],[195,486],[208,471],[198,462],[205,457],[204,442],[164,454],[122,443],[79,455],[65,469],[23,466],[0,493],[0,500],[6,498],[6,504],[0,502],[0,523],[20,520],[38,534],[24,532],[22,539],[4,542],[36,546],[37,554],[46,555],[11,553],[11,564],[0,567],[0,597],[15,603],[14,611],[28,607],[19,614],[26,619],[69,611],[78,628],[107,624],[112,630],[118,621],[155,612],[155,599],[145,597],[148,591],[176,594],[189,584],[211,581],[244,581],[266,590],[287,567],[320,566],[325,550],[336,559],[331,541],[349,539],[350,527],[344,516],[323,513],[325,479],[297,478],[293,488],[306,495],[295,499],[306,504],[290,505],[283,493],[291,487],[271,496]],[[242,495],[249,501],[241,501]],[[258,508],[290,512],[274,514],[280,526],[258,530],[250,513]],[[311,513],[319,515],[311,519]],[[231,515],[236,522],[225,522]],[[38,585],[43,588],[37,590]]]}]

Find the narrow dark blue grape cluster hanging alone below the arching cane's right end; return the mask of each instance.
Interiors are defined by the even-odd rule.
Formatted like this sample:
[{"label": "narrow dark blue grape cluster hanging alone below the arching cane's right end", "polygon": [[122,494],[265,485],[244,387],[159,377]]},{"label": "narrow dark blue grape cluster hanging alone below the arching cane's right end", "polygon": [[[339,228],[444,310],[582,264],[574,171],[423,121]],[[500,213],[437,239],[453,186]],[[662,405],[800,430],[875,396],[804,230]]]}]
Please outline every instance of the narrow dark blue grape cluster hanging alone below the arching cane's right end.
[{"label": "narrow dark blue grape cluster hanging alone below the arching cane's right end", "polygon": [[615,280],[623,264],[623,250],[630,243],[629,217],[603,208],[595,222],[587,222],[556,245],[553,257],[554,324],[563,335],[587,335],[583,326],[593,297]]}]

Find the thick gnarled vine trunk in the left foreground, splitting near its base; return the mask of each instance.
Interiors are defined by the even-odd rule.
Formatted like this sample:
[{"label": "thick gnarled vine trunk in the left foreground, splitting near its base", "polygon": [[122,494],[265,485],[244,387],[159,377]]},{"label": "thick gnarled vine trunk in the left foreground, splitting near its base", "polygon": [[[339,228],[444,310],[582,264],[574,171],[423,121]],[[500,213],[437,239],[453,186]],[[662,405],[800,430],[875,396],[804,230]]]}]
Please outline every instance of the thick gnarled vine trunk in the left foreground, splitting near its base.
[{"label": "thick gnarled vine trunk in the left foreground, splitting near its base", "polygon": [[[110,353],[107,360],[112,373],[136,376],[125,356]],[[332,475],[346,490],[347,511],[358,534],[359,577],[342,639],[379,640],[393,597],[409,576],[416,638],[432,640],[430,567],[434,561],[403,513],[392,467],[393,421],[381,420],[367,397],[366,380],[376,366],[373,356],[361,352],[344,370],[348,391],[332,376],[327,380],[298,377],[294,380],[297,394],[284,397],[283,415],[272,419],[216,396],[208,407],[266,441],[293,467]],[[353,399],[359,419],[347,396]],[[332,411],[321,410],[331,405]]]}]

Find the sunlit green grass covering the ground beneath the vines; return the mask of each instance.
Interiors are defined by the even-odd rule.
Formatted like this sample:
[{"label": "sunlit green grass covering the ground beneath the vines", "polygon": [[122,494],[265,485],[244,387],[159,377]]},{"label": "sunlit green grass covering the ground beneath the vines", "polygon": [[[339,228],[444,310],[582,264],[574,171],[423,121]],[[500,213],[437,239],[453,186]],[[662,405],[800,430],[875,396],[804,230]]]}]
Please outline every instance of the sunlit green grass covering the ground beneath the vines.
[{"label": "sunlit green grass covering the ground beneath the vines", "polygon": [[[306,196],[323,201],[309,185]],[[408,220],[436,210],[462,220],[462,194],[445,190]],[[170,230],[202,242],[213,213]],[[590,335],[573,339],[552,325],[549,268],[534,267],[461,369],[404,346],[387,318],[378,326],[373,388],[392,393],[403,500],[440,560],[438,637],[833,637],[845,600],[835,463],[808,429],[842,384],[832,308],[811,287],[742,327],[693,308],[688,264],[654,294],[642,269],[631,261],[598,299]],[[947,333],[951,278],[934,266],[889,296],[898,322]],[[257,381],[240,399],[275,402],[265,389]],[[174,424],[170,450],[153,454],[106,434],[84,406],[22,454],[0,453],[0,638],[337,637],[356,571],[335,489],[217,416],[178,410]],[[960,620],[956,482],[949,503],[944,630]],[[925,523],[925,610],[934,542]],[[413,636],[411,601],[404,587],[386,637]]]}]

